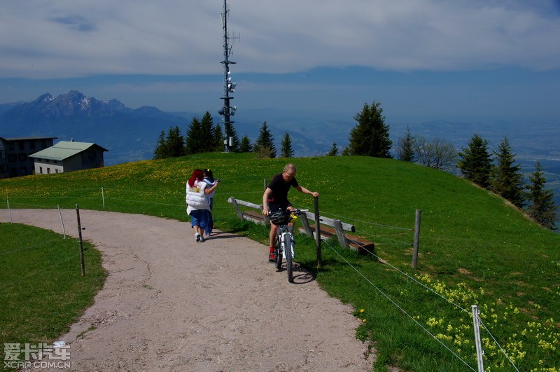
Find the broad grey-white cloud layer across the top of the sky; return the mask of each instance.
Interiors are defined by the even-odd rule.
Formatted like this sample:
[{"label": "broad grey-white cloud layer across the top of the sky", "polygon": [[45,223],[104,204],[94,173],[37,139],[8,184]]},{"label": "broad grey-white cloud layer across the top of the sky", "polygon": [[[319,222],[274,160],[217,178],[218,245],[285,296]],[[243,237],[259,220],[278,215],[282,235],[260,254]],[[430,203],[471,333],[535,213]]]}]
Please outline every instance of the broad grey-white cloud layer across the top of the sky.
[{"label": "broad grey-white cloud layer across the top of the sky", "polygon": [[[560,68],[554,1],[230,0],[235,71]],[[221,74],[221,0],[6,1],[0,77]]]}]

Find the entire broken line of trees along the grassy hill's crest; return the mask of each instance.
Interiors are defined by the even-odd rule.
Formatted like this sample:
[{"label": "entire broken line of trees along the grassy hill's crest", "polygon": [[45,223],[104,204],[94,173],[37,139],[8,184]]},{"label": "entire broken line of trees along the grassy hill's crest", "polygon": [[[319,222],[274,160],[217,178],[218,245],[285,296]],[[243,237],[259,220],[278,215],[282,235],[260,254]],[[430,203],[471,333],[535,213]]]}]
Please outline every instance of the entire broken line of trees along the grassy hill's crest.
[{"label": "entire broken line of trees along the grassy hill's crest", "polygon": [[[356,125],[349,132],[348,146],[342,149],[342,156],[374,156],[393,158],[393,142],[389,137],[390,127],[385,123],[383,109],[379,102],[365,103],[362,110],[353,117]],[[239,140],[232,124],[226,128],[232,137],[233,152],[253,152],[258,158],[276,158],[274,138],[267,122],[263,122],[254,144],[245,135]],[[169,128],[167,136],[162,131],[153,152],[154,159],[184,156],[193,153],[223,151],[225,134],[220,125],[214,125],[207,111],[202,120],[193,118],[186,137],[181,135],[179,127]],[[332,143],[327,156],[339,155],[339,146]],[[461,176],[477,186],[486,188],[500,195],[520,209],[525,209],[531,218],[549,229],[555,228],[556,209],[554,194],[545,188],[546,179],[540,163],[528,177],[530,184],[525,184],[520,165],[515,163],[512,147],[504,137],[497,151],[489,151],[488,141],[473,135],[467,146],[457,151],[454,144],[444,139],[427,139],[412,135],[407,128],[405,136],[398,139],[395,146],[398,160],[418,163],[438,170],[454,172],[458,169]],[[291,138],[288,132],[282,138],[280,156],[294,156]]]}]

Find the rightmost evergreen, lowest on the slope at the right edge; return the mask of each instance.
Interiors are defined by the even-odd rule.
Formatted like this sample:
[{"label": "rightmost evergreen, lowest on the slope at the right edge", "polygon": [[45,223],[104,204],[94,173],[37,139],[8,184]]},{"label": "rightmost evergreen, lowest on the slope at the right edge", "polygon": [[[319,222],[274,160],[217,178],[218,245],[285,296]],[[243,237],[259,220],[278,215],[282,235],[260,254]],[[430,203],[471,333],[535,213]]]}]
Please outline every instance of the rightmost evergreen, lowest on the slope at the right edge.
[{"label": "rightmost evergreen, lowest on the slope at the right edge", "polygon": [[545,189],[546,179],[542,173],[540,162],[535,166],[535,172],[529,176],[531,184],[526,186],[528,189],[529,205],[527,212],[532,219],[540,223],[545,228],[553,230],[556,228],[556,209],[554,205],[554,193]]}]

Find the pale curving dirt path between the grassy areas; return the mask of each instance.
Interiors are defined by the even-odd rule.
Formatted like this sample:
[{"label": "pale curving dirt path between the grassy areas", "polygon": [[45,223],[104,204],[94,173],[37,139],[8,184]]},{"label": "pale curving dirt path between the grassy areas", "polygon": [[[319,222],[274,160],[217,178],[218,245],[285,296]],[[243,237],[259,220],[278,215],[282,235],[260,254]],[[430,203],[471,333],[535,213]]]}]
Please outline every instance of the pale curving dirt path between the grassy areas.
[{"label": "pale curving dirt path between the grassy areas", "polygon": [[[57,210],[11,214],[62,233]],[[76,211],[62,216],[66,234],[78,235]],[[0,221],[10,221],[6,210]],[[263,244],[219,231],[197,243],[190,223],[138,214],[82,210],[80,221],[109,277],[61,338],[72,370],[371,370],[352,308],[302,269],[288,283]]]}]

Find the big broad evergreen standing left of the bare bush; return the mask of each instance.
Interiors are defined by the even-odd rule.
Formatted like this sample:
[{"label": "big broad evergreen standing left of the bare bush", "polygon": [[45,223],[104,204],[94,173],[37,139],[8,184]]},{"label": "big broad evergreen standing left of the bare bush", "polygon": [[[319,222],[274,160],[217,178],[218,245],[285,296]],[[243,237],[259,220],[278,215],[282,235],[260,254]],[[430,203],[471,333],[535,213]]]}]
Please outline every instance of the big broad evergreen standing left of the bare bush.
[{"label": "big broad evergreen standing left of the bare bush", "polygon": [[370,106],[365,103],[360,113],[354,116],[358,122],[352,128],[349,136],[349,153],[351,155],[374,156],[377,158],[392,158],[389,126],[385,124],[383,109],[379,102]]}]

